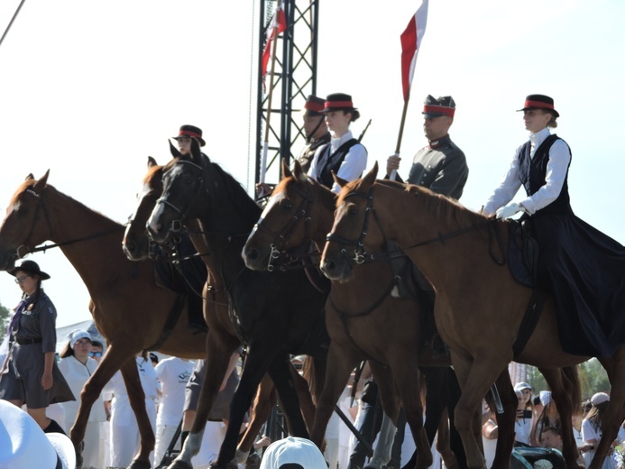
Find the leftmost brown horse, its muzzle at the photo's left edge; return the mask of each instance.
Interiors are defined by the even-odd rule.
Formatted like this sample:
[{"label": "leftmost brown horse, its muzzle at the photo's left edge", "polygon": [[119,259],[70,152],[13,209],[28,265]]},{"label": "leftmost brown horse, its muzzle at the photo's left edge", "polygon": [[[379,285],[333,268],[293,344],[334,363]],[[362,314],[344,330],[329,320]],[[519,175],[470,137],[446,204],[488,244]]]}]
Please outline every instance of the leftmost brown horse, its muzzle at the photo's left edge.
[{"label": "leftmost brown horse, its muzzle at the photo's left edge", "polygon": [[[152,262],[126,259],[120,249],[123,232],[124,225],[49,185],[48,172],[39,180],[30,175],[15,191],[0,226],[0,269],[13,269],[17,259],[46,240],[60,245],[87,286],[89,310],[108,343],[105,356],[80,394],[71,440],[78,449],[91,406],[106,382],[121,369],[141,434],[141,449],[130,467],[149,468],[154,435],[134,355],[160,341],[177,295],[157,287]],[[203,357],[206,335],[188,332],[186,311],[180,318],[159,351],[185,358]]]}]

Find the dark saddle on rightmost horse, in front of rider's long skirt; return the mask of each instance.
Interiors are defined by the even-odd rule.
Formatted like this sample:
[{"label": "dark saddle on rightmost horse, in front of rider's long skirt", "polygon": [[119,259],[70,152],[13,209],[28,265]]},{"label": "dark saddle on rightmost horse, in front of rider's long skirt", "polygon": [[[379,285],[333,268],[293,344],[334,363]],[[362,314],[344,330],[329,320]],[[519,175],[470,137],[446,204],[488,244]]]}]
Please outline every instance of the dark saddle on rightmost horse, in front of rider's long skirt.
[{"label": "dark saddle on rightmost horse, in front of rider's long skirt", "polygon": [[521,285],[529,288],[537,286],[538,242],[526,220],[510,220],[508,267],[514,280]]}]

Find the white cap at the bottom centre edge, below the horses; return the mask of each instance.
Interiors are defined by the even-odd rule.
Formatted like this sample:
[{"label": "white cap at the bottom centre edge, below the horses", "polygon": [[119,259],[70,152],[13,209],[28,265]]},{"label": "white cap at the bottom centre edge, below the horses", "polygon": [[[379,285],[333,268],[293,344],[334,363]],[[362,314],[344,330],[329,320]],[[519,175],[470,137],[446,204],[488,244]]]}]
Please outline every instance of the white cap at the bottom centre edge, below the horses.
[{"label": "white cap at the bottom centre edge, below the horses", "polygon": [[262,456],[261,469],[327,469],[327,464],[312,441],[286,437],[267,447]]}]

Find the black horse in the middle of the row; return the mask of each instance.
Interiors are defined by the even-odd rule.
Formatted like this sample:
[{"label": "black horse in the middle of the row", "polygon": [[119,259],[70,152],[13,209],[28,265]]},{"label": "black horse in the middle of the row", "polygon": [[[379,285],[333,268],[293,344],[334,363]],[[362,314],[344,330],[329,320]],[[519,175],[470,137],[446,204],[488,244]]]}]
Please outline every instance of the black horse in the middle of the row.
[{"label": "black horse in the middle of the row", "polygon": [[[325,356],[326,294],[316,290],[304,272],[258,272],[245,267],[241,250],[261,209],[231,175],[201,155],[197,142],[191,147],[192,157],[179,155],[166,165],[162,196],[148,221],[148,229],[155,242],[166,244],[177,229],[198,219],[208,250],[205,257],[210,275],[216,290],[223,290],[228,296],[237,336],[247,345],[241,382],[230,408],[230,423],[214,465],[225,467],[234,457],[238,428],[265,372],[269,372],[278,390],[291,432],[308,437],[293,389],[289,355]],[[201,249],[199,246],[198,252]],[[238,344],[238,340],[232,342]],[[198,417],[177,459],[180,463],[190,461],[198,450],[204,427],[202,416],[206,420],[212,405],[212,400],[204,398],[203,392]]]}]

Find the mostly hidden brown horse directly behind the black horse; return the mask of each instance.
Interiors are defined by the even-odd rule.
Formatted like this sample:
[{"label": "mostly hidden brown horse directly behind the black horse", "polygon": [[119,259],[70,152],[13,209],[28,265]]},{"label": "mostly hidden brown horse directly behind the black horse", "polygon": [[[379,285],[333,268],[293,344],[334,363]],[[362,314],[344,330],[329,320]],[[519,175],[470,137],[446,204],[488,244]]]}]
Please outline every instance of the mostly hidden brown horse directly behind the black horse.
[{"label": "mostly hidden brown horse directly behind the black horse", "polygon": [[[131,261],[142,261],[155,256],[154,246],[149,239],[146,229],[146,222],[152,213],[156,201],[162,194],[162,169],[163,167],[152,158],[148,158],[148,171],[142,181],[142,190],[139,194],[138,205],[131,216],[124,233],[123,248],[124,253]],[[189,221],[192,225],[193,221]],[[203,243],[201,236],[195,237],[195,242]],[[199,253],[207,253],[207,245],[202,244]],[[204,256],[202,256],[204,257]],[[165,261],[167,262],[167,261]],[[185,259],[179,262],[186,262]],[[205,298],[204,317],[209,326],[207,335],[207,349],[209,354],[220,354],[221,360],[229,361],[227,350],[229,350],[229,342],[232,339],[238,341],[236,330],[229,316],[228,301],[225,292],[217,291],[211,288],[211,280],[207,280],[207,290],[200,292]],[[219,358],[219,357],[217,357]],[[315,406],[308,391],[308,382],[306,382],[299,372],[291,365],[291,376],[298,391],[299,403],[302,408],[302,414],[309,428],[312,428],[315,418]],[[217,373],[218,374],[218,373]],[[207,388],[214,390],[219,388],[221,381],[217,380],[216,373],[207,373]],[[234,462],[243,464],[250,449],[252,448],[255,437],[258,435],[262,424],[267,420],[271,409],[275,405],[277,395],[273,382],[268,374],[262,378],[262,382],[258,388],[258,393],[254,399],[253,412],[250,423],[245,430],[244,437],[239,442]]]}]

